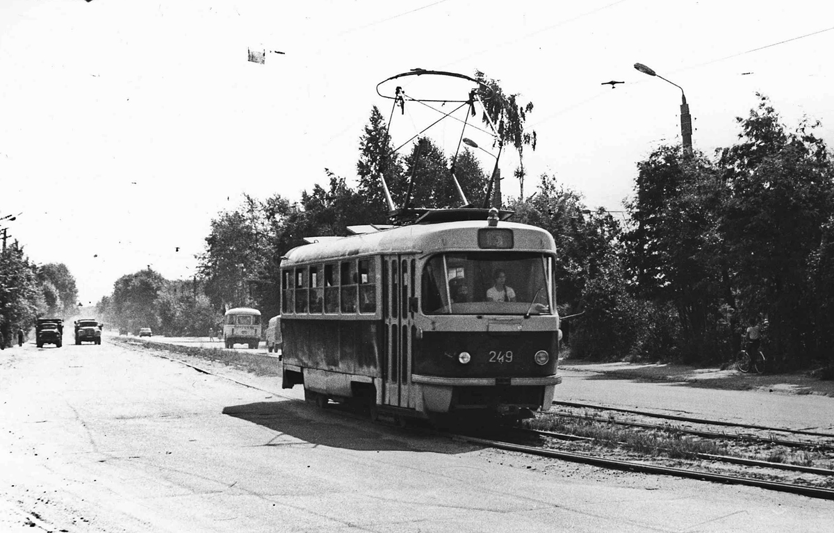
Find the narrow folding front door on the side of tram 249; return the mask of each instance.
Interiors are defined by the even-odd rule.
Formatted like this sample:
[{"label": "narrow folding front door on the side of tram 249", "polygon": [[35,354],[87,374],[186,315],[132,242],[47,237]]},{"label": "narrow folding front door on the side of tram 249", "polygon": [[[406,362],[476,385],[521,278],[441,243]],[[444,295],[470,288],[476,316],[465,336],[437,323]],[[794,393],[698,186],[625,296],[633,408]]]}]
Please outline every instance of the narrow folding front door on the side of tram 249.
[{"label": "narrow folding front door on the side of tram 249", "polygon": [[414,409],[411,383],[411,345],[414,326],[414,263],[408,255],[384,256],[385,365],[382,401]]}]

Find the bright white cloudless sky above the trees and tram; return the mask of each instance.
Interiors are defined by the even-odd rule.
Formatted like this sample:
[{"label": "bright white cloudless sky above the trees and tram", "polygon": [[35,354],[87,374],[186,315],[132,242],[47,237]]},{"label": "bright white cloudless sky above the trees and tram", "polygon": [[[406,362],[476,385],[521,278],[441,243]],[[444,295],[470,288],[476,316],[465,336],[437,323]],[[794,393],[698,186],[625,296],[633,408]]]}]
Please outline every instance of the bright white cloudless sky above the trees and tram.
[{"label": "bright white cloudless sky above the trees and tram", "polygon": [[[681,143],[681,89],[634,63],[683,88],[693,146],[712,155],[756,93],[834,145],[831,49],[834,4],[808,0],[2,0],[0,217],[18,216],[0,228],[34,262],[66,264],[84,305],[148,266],[191,278],[211,220],[243,194],[298,200],[325,168],[355,184],[371,108],[391,113],[377,84],[412,68],[480,70],[534,104],[525,196],[547,173],[620,212],[636,163]],[[414,98],[471,88],[426,78],[398,83]],[[408,103],[394,143],[431,113]],[[454,153],[460,123],[426,133]],[[518,163],[505,150],[505,199]]]}]

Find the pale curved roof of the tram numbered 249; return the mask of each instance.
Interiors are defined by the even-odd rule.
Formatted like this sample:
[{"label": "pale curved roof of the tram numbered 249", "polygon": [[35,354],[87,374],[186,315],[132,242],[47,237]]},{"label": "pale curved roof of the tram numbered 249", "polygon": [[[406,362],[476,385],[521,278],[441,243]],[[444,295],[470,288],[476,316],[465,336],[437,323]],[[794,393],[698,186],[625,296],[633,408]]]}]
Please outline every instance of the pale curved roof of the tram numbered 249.
[{"label": "pale curved roof of the tram numbered 249", "polygon": [[[289,250],[283,265],[327,261],[356,255],[395,254],[406,252],[430,253],[444,249],[479,249],[477,230],[492,228],[485,220],[411,224],[384,229],[370,234],[329,238],[304,244]],[[496,229],[514,229],[514,249],[545,249],[555,251],[553,236],[545,229],[500,222]]]}]

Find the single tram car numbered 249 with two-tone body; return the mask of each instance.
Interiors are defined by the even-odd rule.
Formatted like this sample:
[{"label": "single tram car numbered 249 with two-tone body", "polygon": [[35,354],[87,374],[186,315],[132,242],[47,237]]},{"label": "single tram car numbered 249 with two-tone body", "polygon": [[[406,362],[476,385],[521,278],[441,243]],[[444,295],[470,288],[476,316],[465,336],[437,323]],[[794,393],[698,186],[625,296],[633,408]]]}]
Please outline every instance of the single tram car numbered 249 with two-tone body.
[{"label": "single tram car numbered 249 with two-tone body", "polygon": [[376,417],[530,416],[561,382],[555,242],[498,209],[426,209],[281,262],[283,387]]}]

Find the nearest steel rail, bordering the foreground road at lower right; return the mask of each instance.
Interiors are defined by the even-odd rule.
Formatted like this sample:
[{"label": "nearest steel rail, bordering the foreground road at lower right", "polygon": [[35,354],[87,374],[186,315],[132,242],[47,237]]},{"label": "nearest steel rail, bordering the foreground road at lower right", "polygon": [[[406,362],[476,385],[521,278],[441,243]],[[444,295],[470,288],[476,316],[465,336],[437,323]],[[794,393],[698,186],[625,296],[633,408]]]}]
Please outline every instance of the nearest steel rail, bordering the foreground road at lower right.
[{"label": "nearest steel rail, bordering the foreground road at lower right", "polygon": [[520,453],[530,455],[540,455],[542,457],[550,457],[551,459],[560,459],[570,461],[573,463],[583,463],[585,465],[601,466],[603,468],[610,468],[614,470],[629,470],[632,472],[640,472],[645,474],[673,475],[676,477],[689,478],[693,480],[714,481],[716,483],[726,483],[729,485],[747,485],[766,490],[776,490],[779,492],[789,492],[791,494],[804,495],[810,498],[834,500],[834,489],[825,489],[806,485],[793,485],[791,483],[781,483],[778,481],[756,480],[746,477],[737,477],[735,475],[712,474],[711,472],[686,470],[682,468],[671,468],[667,466],[646,465],[644,463],[636,463],[632,461],[616,459],[605,459],[603,457],[594,457],[592,455],[575,454],[565,451],[542,450],[540,448],[534,448],[532,446],[515,445],[510,442],[481,439],[480,437],[469,437],[465,435],[450,435],[450,437],[452,440],[468,442],[470,444],[490,446],[492,448],[498,448],[499,450],[518,451]]}]

